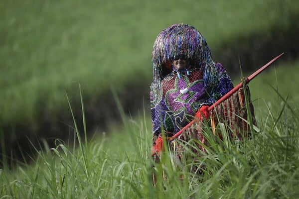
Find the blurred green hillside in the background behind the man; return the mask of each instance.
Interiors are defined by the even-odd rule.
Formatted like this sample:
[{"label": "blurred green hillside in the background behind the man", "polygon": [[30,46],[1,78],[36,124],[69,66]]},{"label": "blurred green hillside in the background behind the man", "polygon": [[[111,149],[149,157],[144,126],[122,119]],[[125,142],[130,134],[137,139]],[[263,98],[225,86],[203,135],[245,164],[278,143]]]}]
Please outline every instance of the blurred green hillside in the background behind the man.
[{"label": "blurred green hillside in the background behind the man", "polygon": [[[111,113],[118,111],[111,88],[126,111],[142,107],[151,82],[153,41],[173,23],[198,28],[218,61],[236,38],[272,37],[274,26],[290,30],[298,11],[297,0],[2,1],[0,131],[9,140],[30,133],[67,134],[55,125],[72,125],[65,92],[80,110],[78,84],[92,112],[90,128],[117,115]],[[227,57],[238,60],[235,53]]]}]

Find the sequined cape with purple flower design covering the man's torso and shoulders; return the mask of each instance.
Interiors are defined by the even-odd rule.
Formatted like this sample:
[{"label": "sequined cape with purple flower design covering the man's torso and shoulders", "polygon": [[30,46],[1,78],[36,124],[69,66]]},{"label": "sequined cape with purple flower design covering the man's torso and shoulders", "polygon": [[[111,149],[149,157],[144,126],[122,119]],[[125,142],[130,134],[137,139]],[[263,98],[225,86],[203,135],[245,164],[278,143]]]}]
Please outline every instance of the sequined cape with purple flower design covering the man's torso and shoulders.
[{"label": "sequined cape with purple flower design covering the man's torso and shoulders", "polygon": [[178,77],[172,73],[163,78],[161,97],[150,95],[153,134],[157,135],[161,129],[171,134],[178,132],[194,118],[201,106],[212,105],[233,88],[223,65],[217,63],[217,69],[219,85],[208,91],[198,69],[192,70],[190,75]]}]

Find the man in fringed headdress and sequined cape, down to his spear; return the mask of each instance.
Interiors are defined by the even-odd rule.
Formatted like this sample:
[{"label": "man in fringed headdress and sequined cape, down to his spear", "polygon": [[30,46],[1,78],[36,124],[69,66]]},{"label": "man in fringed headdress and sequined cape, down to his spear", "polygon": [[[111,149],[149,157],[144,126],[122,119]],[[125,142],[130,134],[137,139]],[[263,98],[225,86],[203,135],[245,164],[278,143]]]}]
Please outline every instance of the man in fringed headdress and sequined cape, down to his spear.
[{"label": "man in fringed headdress and sequined cape, down to his spear", "polygon": [[[150,108],[153,150],[162,132],[170,137],[233,89],[221,63],[215,63],[205,38],[193,26],[174,24],[160,32],[152,50]],[[204,142],[204,138],[199,138]]]}]

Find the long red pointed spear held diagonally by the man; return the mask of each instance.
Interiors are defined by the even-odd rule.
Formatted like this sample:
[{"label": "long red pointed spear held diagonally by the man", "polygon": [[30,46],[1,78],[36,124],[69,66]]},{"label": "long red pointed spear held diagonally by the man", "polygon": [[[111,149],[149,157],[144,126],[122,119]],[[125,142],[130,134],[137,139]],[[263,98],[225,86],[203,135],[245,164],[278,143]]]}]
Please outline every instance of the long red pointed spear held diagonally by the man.
[{"label": "long red pointed spear held diagonally by the man", "polygon": [[[280,58],[284,53],[280,54],[279,56],[277,56],[276,58],[274,58],[273,60],[271,60],[270,62],[268,62],[266,65],[264,65],[262,68],[260,68],[259,70],[257,70],[256,72],[254,72],[251,76],[249,76],[248,78],[246,78],[244,80],[245,84],[248,84],[253,78],[255,78],[257,75],[259,75],[262,71],[264,71],[268,66],[270,66],[272,63],[274,63],[278,58]],[[224,95],[222,98],[220,98],[219,100],[217,100],[214,104],[212,104],[209,108],[208,111],[213,110],[217,105],[219,105],[220,103],[222,103],[224,100],[228,99],[231,95],[233,95],[236,91],[238,91],[241,87],[243,87],[243,81],[238,84],[235,88],[233,88],[230,92],[228,92],[226,95]],[[183,133],[187,128],[189,128],[194,122],[198,121],[198,118],[194,118],[190,123],[188,123],[184,128],[182,128],[180,131],[178,131],[176,134],[174,134],[170,140],[176,138],[177,136],[179,136],[181,133]]]}]

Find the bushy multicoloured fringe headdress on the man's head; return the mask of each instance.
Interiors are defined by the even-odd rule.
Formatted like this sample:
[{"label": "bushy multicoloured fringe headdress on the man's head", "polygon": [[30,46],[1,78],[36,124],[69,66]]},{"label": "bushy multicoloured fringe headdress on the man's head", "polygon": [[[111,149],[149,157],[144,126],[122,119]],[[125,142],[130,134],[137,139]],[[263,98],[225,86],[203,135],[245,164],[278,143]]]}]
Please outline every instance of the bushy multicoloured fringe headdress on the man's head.
[{"label": "bushy multicoloured fringe headdress on the man's head", "polygon": [[205,38],[191,25],[174,24],[160,32],[154,41],[151,54],[153,81],[150,88],[153,98],[160,97],[161,80],[165,76],[163,70],[176,55],[185,55],[192,60],[193,67],[203,71],[205,89],[218,84],[216,64]]}]

